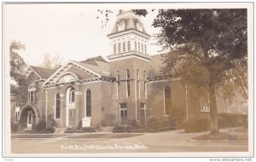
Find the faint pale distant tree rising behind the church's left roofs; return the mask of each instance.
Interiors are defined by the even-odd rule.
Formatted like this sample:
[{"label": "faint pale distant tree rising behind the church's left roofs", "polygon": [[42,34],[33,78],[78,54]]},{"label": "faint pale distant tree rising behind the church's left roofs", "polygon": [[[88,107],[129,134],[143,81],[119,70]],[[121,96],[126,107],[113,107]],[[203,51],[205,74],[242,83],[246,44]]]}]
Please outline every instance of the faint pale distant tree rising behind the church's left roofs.
[{"label": "faint pale distant tree rising behind the church's left roofs", "polygon": [[52,57],[50,57],[49,54],[45,53],[44,61],[41,66],[44,68],[55,69],[57,67],[60,67],[62,62],[63,62],[63,56],[53,55]]}]

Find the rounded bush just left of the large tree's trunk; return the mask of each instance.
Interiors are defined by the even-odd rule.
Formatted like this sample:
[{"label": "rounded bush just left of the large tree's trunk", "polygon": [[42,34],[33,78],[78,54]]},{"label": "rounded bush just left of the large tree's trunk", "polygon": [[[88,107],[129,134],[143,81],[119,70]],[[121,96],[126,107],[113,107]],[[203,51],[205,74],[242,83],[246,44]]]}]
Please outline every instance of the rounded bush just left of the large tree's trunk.
[{"label": "rounded bush just left of the large tree's trunk", "polygon": [[183,129],[187,133],[210,130],[211,121],[209,119],[187,119],[183,122]]}]

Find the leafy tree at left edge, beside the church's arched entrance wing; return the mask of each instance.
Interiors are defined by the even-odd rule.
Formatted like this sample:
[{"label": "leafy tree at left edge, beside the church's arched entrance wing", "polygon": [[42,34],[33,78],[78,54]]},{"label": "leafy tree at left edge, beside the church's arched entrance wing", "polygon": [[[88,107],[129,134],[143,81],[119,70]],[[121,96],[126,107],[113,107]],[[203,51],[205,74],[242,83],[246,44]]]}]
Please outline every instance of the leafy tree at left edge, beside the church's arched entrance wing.
[{"label": "leafy tree at left edge, beside the church's arched entrance wing", "polygon": [[26,70],[26,63],[18,53],[20,49],[25,50],[25,44],[18,41],[10,43],[10,78],[13,81],[13,84],[10,85],[10,93],[18,98],[22,97],[23,94],[22,91],[25,85],[24,72]]}]

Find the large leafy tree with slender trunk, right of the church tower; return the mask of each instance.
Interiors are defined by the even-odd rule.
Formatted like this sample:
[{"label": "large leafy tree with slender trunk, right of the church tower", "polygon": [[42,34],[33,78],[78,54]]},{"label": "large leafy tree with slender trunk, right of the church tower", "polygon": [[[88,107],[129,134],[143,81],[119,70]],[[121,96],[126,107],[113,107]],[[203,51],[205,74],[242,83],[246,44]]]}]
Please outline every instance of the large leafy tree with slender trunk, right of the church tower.
[{"label": "large leafy tree with slender trunk, right of the church tower", "polygon": [[228,73],[236,83],[235,62],[247,62],[247,9],[160,9],[153,26],[161,27],[159,43],[170,49],[163,72],[208,90],[211,133],[218,133],[215,90]]}]

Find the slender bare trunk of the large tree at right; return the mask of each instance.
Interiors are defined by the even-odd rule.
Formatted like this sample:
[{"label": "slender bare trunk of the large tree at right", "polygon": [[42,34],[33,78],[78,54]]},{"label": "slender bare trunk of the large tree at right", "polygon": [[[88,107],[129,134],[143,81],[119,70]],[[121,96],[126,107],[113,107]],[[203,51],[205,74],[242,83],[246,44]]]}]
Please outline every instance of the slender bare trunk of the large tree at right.
[{"label": "slender bare trunk of the large tree at right", "polygon": [[213,84],[209,84],[210,95],[210,113],[211,113],[211,134],[217,134],[218,131],[218,110],[215,95],[215,88]]}]

